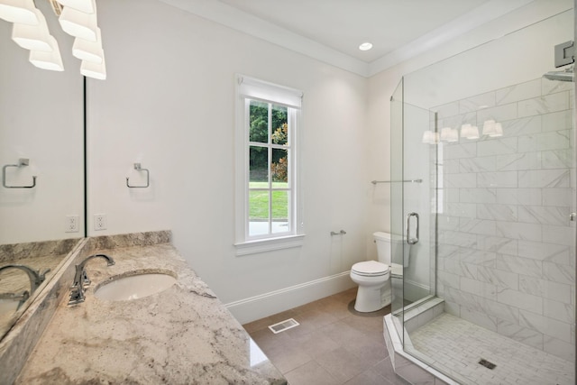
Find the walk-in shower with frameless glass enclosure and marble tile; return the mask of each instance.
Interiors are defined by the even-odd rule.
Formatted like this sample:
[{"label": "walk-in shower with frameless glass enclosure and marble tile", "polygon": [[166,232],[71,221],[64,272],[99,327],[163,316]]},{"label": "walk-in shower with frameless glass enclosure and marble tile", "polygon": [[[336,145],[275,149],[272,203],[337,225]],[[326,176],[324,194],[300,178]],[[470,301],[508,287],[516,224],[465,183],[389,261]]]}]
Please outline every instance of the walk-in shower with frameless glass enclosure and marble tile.
[{"label": "walk-in shower with frameless glass enclosure and marble tile", "polygon": [[420,217],[385,318],[411,382],[574,384],[575,83],[553,58],[573,35],[572,10],[544,17],[391,97],[390,177],[422,179],[390,187],[391,233]]}]

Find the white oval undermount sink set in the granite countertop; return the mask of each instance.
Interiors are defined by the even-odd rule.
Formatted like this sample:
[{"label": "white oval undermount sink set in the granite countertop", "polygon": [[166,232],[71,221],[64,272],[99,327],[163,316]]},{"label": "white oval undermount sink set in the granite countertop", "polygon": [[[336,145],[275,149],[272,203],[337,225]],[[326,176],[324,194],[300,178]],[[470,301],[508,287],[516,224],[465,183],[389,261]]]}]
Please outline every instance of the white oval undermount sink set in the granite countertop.
[{"label": "white oval undermount sink set in the granite countertop", "polygon": [[111,301],[143,298],[169,289],[177,281],[166,273],[141,273],[111,280],[95,291],[95,296]]}]

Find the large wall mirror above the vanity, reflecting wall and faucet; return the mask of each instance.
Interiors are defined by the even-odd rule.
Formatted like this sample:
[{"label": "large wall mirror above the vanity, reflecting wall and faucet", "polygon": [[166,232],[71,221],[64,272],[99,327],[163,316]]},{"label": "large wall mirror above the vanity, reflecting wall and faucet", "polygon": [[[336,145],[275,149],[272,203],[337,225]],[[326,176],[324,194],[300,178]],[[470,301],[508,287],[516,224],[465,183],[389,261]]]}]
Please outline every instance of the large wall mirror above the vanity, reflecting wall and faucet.
[{"label": "large wall mirror above the vanity, reflecting wall and faucet", "polygon": [[0,339],[85,235],[84,79],[72,38],[37,5],[62,72],[34,67],[0,20]]}]

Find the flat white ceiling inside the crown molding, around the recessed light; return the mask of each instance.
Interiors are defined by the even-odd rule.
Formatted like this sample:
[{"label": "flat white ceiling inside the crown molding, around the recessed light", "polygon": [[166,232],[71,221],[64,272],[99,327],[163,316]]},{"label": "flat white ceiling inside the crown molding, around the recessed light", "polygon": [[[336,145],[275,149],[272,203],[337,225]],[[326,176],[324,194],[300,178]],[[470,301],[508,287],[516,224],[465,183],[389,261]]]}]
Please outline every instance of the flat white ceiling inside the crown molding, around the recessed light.
[{"label": "flat white ceiling inside the crown molding, around the recessed light", "polygon": [[[370,63],[489,0],[220,0]],[[359,50],[364,41],[372,50]]]}]

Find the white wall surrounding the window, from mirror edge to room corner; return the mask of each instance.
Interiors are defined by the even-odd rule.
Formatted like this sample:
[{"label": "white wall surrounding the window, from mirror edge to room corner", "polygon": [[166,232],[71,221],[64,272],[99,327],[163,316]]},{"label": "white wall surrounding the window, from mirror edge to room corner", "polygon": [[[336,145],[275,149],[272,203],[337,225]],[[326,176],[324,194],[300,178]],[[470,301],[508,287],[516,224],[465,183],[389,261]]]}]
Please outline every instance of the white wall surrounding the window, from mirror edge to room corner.
[{"label": "white wall surrounding the window, from mirror edge to room corner", "polygon": [[[364,260],[367,79],[152,0],[98,13],[108,78],[88,82],[88,216],[107,229],[88,234],[171,229],[224,303]],[[301,248],[234,255],[234,73],[304,91]],[[126,188],[141,181],[135,161],[151,188]]]}]

